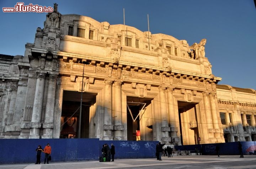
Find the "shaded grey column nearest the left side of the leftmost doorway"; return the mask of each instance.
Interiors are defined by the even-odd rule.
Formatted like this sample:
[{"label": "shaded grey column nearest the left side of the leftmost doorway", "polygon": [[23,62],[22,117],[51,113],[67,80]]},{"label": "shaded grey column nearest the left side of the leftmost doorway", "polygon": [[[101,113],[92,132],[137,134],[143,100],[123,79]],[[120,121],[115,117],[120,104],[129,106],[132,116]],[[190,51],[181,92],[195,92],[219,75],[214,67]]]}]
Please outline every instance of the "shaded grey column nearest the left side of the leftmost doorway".
[{"label": "shaded grey column nearest the left side of the leftmost doorway", "polygon": [[46,100],[46,112],[44,116],[42,139],[53,138],[54,103],[55,103],[57,77],[58,75],[54,75],[54,74],[49,75],[47,100]]}]

